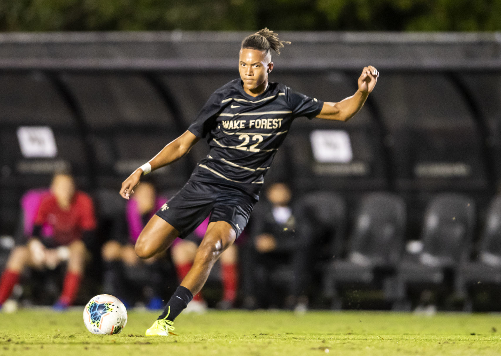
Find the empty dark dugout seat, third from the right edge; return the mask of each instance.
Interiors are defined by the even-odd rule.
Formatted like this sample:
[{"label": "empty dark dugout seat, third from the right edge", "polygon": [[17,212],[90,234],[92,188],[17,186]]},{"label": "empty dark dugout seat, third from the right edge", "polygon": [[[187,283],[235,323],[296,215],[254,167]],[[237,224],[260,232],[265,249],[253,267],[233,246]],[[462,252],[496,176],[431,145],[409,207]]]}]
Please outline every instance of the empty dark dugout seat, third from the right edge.
[{"label": "empty dark dugout seat, third from the right edge", "polygon": [[388,277],[402,255],[405,202],[391,193],[371,193],[363,198],[357,216],[347,257],[332,261],[326,270],[326,291],[334,307],[341,305],[339,285],[386,289],[384,299],[394,297]]}]

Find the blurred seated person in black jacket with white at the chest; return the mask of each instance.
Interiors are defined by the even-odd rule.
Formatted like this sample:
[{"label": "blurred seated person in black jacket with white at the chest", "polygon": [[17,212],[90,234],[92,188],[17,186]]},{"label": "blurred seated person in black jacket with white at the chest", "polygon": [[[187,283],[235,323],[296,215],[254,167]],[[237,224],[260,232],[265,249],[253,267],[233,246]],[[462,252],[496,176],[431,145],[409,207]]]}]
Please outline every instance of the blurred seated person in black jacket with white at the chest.
[{"label": "blurred seated person in black jacket with white at the chest", "polygon": [[[306,310],[308,298],[304,288],[309,244],[296,233],[291,189],[286,183],[277,182],[267,189],[266,197],[269,204],[256,211],[253,238],[242,253],[243,306]],[[279,289],[285,291],[283,302]]]}]

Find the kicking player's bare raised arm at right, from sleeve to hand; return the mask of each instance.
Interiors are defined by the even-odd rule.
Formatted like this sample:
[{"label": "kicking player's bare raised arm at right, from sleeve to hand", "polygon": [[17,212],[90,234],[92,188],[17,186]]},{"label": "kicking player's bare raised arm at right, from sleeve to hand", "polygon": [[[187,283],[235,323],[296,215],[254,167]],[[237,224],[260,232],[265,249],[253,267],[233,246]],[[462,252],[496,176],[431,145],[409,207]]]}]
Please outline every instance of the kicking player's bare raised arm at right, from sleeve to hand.
[{"label": "kicking player's bare raised arm at right, from sleeve to hand", "polygon": [[324,102],[322,111],[316,117],[319,119],[348,121],[362,109],[365,100],[374,89],[379,72],[373,66],[365,67],[358,78],[358,90],[351,97],[339,103]]}]

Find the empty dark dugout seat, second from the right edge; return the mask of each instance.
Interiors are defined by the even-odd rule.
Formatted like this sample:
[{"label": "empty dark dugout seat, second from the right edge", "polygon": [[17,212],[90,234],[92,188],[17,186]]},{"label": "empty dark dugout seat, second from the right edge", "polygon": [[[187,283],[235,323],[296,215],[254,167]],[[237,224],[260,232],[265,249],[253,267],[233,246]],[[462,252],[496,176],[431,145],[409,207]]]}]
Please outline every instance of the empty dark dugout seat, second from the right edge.
[{"label": "empty dark dugout seat, second from the right edge", "polygon": [[460,293],[457,269],[469,258],[475,224],[472,199],[453,193],[432,199],[424,217],[422,253],[418,259],[405,257],[398,266],[399,304],[405,299],[408,287]]}]

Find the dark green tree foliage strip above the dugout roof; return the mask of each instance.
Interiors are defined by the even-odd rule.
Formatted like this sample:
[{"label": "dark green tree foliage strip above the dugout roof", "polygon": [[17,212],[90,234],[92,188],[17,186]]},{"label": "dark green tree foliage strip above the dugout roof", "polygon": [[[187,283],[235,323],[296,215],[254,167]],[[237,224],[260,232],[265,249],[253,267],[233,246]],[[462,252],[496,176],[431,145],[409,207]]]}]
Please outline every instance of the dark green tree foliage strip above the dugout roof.
[{"label": "dark green tree foliage strip above the dugout roof", "polygon": [[499,31],[501,0],[0,0],[1,31]]}]

